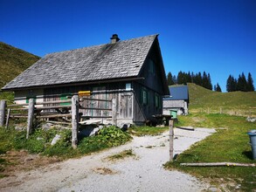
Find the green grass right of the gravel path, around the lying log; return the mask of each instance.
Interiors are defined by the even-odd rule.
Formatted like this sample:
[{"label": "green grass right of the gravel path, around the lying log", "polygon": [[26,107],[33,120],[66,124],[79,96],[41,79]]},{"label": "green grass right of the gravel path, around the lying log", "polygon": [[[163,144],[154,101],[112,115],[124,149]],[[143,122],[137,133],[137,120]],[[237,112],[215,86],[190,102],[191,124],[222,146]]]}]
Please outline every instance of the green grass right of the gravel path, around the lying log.
[{"label": "green grass right of the gravel path, around the lying log", "polygon": [[[166,168],[176,168],[191,175],[210,180],[214,184],[236,182],[242,191],[256,189],[256,168],[199,168],[181,167],[182,162],[245,162],[256,163],[247,132],[256,129],[256,124],[246,118],[226,114],[196,113],[180,116],[176,126],[223,127],[204,141],[178,155],[176,161],[166,163]],[[232,187],[230,186],[232,189]]]}]

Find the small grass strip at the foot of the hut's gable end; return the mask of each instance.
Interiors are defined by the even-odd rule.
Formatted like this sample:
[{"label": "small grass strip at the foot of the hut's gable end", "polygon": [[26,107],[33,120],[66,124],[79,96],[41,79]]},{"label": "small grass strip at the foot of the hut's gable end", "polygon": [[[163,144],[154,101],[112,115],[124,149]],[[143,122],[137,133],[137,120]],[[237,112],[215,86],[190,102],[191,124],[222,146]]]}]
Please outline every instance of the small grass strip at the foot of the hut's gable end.
[{"label": "small grass strip at the foot of the hut's gable end", "polygon": [[128,133],[133,134],[135,136],[144,136],[144,135],[158,135],[165,131],[169,130],[169,127],[149,127],[149,126],[142,126],[142,127],[130,127],[128,128]]}]

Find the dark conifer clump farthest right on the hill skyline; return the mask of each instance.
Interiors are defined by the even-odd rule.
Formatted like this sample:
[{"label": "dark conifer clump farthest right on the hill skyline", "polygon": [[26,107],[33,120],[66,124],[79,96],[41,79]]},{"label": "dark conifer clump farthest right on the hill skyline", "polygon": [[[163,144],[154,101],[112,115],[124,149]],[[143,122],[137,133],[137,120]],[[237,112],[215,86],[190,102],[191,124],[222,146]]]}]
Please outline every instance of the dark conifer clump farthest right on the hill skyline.
[{"label": "dark conifer clump farthest right on the hill skyline", "polygon": [[226,80],[227,92],[254,92],[254,90],[253,78],[250,72],[248,73],[247,79],[244,72],[242,72],[242,74],[239,74],[239,79],[235,79],[232,75],[229,75]]}]

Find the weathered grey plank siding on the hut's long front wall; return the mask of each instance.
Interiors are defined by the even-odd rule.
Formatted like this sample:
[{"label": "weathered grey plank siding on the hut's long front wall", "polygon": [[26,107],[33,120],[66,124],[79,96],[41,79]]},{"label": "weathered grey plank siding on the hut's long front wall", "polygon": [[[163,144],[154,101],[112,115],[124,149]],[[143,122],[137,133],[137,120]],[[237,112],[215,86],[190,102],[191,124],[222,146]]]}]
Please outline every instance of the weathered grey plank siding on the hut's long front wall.
[{"label": "weathered grey plank siding on the hut's long front wall", "polygon": [[[127,82],[117,83],[117,84],[106,84],[106,85],[95,85],[95,86],[73,86],[73,87],[59,87],[50,89],[45,89],[45,101],[60,100],[60,95],[78,93],[79,91],[91,91],[92,95],[87,96],[92,99],[116,99],[117,102],[117,120],[128,121],[133,123],[134,118],[137,116],[136,120],[144,121],[142,118],[142,110],[139,109],[138,99],[135,99],[135,94],[132,89],[126,90]],[[132,86],[132,83],[130,83]],[[52,104],[53,105],[53,104]],[[107,108],[110,109],[112,104],[108,101],[90,100],[84,99],[80,102],[80,105],[85,108]],[[84,116],[112,116],[111,111],[105,110],[92,110],[92,109],[80,109],[80,113]]]}]

